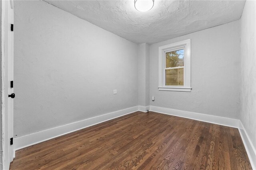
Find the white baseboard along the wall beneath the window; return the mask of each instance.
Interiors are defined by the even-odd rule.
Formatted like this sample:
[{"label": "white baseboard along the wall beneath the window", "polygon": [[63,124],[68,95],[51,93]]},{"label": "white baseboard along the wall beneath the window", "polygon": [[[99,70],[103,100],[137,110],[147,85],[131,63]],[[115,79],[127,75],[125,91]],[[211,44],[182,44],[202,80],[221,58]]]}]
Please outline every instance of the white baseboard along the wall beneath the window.
[{"label": "white baseboard along the wall beneath the window", "polygon": [[178,117],[184,117],[188,119],[194,119],[199,121],[204,121],[208,123],[214,123],[217,125],[224,125],[229,127],[239,127],[240,120],[238,119],[231,119],[228,117],[220,117],[220,116],[214,116],[214,115],[206,115],[202,113],[194,113],[190,111],[182,111],[182,110],[176,110],[176,109],[169,109],[164,107],[157,107],[157,106],[150,106],[150,111],[155,111],[158,113],[163,113],[167,115],[174,115]]}]

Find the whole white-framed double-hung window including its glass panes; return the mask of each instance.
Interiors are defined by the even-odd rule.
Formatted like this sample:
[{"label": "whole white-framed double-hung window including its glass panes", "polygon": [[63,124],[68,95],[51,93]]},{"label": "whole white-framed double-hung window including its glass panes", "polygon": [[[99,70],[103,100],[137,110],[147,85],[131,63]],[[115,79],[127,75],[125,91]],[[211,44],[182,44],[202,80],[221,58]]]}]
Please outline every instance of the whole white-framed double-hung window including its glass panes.
[{"label": "whole white-framed double-hung window including its glass panes", "polygon": [[190,39],[159,47],[158,90],[191,92]]}]

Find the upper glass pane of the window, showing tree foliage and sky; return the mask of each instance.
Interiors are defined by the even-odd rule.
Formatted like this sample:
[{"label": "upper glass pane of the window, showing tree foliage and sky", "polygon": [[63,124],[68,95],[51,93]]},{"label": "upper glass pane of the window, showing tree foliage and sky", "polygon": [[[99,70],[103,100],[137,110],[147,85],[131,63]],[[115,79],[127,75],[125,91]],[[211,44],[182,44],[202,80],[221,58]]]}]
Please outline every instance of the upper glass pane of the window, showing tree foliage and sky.
[{"label": "upper glass pane of the window, showing tree foliage and sky", "polygon": [[184,66],[184,49],[166,53],[166,68]]}]

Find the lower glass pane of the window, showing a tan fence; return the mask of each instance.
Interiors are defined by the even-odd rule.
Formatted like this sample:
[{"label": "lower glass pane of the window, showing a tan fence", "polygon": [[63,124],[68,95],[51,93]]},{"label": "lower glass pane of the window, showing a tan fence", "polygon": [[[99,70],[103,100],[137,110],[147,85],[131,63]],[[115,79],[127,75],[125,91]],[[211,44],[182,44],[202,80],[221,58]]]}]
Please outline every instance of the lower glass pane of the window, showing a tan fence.
[{"label": "lower glass pane of the window, showing a tan fence", "polygon": [[184,68],[165,70],[166,86],[184,86]]}]

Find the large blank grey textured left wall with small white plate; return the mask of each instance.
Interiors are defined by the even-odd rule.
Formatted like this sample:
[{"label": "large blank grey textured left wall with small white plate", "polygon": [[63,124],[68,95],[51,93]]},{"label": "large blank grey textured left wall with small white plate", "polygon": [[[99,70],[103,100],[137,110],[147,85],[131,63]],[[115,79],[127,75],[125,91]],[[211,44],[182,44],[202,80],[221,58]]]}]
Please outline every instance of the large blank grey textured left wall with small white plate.
[{"label": "large blank grey textured left wall with small white plate", "polygon": [[44,1],[14,6],[14,135],[138,105],[138,45]]}]

